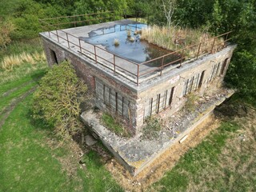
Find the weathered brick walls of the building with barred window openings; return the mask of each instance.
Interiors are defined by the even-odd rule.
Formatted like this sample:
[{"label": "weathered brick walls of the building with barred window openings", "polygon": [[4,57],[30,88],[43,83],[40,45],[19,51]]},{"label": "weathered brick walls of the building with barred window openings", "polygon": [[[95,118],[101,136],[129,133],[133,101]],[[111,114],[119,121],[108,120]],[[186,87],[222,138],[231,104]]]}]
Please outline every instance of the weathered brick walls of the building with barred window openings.
[{"label": "weathered brick walls of the building with barred window openings", "polygon": [[83,58],[46,38],[43,38],[43,45],[50,66],[65,59],[70,60],[78,77],[86,82],[94,94],[94,105],[123,119],[133,134],[140,131],[147,116],[159,114],[162,110],[169,110],[168,114],[180,110],[186,102],[187,94],[202,95],[206,89],[213,92],[217,90],[222,85],[235,48],[230,46],[216,54],[187,63],[176,69],[178,73],[172,73],[175,75],[163,75],[146,89],[135,92],[114,78],[114,74],[110,74],[112,71],[97,68],[97,63],[89,58]]}]

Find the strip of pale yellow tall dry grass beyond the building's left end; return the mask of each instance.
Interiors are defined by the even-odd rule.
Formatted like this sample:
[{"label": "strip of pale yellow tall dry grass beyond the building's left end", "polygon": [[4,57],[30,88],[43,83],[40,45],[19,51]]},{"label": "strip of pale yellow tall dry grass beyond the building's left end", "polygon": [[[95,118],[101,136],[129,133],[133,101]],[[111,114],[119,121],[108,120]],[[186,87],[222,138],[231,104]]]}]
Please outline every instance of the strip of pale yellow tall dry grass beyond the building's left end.
[{"label": "strip of pale yellow tall dry grass beyond the building's left end", "polygon": [[44,52],[34,52],[34,54],[27,54],[23,52],[22,54],[4,57],[0,63],[0,68],[3,70],[13,70],[14,66],[21,66],[23,63],[30,63],[34,65],[36,62],[43,61],[46,61],[46,55]]}]

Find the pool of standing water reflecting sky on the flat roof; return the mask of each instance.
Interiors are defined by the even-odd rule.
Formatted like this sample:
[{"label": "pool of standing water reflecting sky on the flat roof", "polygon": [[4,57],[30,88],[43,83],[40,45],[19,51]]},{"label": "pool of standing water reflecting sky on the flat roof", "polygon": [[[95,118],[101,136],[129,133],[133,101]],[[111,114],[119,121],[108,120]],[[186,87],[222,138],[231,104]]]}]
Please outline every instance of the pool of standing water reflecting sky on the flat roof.
[{"label": "pool of standing water reflecting sky on the flat roof", "polygon": [[[106,50],[137,63],[146,62],[170,53],[169,50],[154,46],[146,41],[141,41],[140,34],[134,33],[134,31],[146,27],[146,24],[130,24],[128,26],[115,25],[109,28],[101,28],[91,31],[89,38],[84,38],[84,41],[93,45],[105,46]],[[131,42],[129,38],[127,38],[127,30],[131,31],[134,42]],[[118,39],[119,46],[114,46],[115,38]],[[163,65],[176,59],[178,59],[178,55],[170,55],[165,58]],[[162,58],[148,63],[147,66],[161,66],[161,63]]]}]

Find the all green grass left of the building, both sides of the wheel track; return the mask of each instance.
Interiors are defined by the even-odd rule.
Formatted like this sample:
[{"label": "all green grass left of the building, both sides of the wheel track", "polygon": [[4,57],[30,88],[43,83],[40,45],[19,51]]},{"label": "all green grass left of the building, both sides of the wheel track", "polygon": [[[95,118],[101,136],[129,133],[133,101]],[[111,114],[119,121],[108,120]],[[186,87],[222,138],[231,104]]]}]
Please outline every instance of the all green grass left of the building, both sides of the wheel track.
[{"label": "all green grass left of the building, both sides of the wheel track", "polygon": [[[0,71],[0,111],[36,86],[46,70],[46,63],[27,63]],[[14,107],[0,127],[0,191],[123,191],[94,151],[84,154],[86,169],[81,169],[72,158],[74,151],[66,150],[68,144],[50,146],[56,138],[51,129],[31,118],[31,101],[32,94]],[[3,117],[0,114],[0,122]],[[72,162],[74,174],[68,174],[70,168],[61,159]]]}]

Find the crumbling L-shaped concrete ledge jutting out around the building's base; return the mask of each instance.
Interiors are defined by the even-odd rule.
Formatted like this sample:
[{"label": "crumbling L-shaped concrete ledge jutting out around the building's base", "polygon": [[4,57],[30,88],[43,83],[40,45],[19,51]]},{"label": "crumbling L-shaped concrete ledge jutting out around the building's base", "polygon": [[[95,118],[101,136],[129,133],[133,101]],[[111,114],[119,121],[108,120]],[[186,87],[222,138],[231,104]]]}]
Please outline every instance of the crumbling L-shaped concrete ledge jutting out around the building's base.
[{"label": "crumbling L-shaped concrete ledge jutting out around the building's base", "polygon": [[212,114],[215,106],[220,105],[232,94],[234,90],[225,90],[222,94],[206,96],[206,100],[201,99],[198,103],[194,113],[178,112],[172,116],[168,127],[150,139],[142,135],[134,138],[121,138],[102,126],[99,115],[92,110],[82,113],[81,117],[86,126],[89,126],[114,154],[114,157],[130,171],[130,174],[136,176],[165,153],[170,146],[180,141],[186,134],[190,134],[191,130],[194,130]]}]

